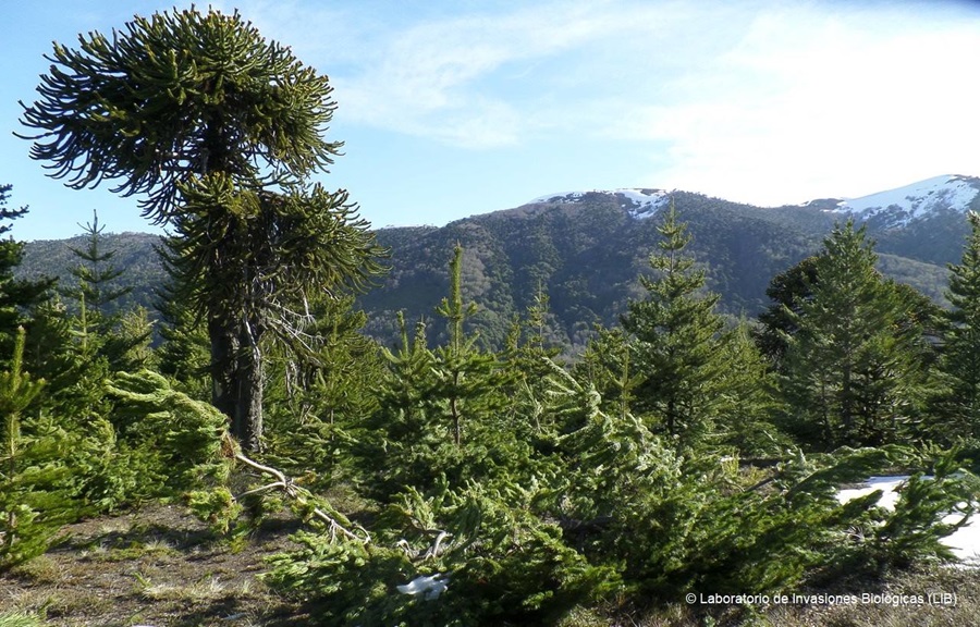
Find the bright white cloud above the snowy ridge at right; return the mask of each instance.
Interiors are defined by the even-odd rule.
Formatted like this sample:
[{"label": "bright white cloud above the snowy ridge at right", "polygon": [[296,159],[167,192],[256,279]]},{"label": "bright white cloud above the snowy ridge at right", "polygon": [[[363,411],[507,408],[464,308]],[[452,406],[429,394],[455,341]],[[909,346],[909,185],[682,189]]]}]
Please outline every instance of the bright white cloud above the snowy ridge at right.
[{"label": "bright white cloud above the snowy ridge at right", "polygon": [[658,184],[759,204],[970,174],[977,26],[880,7],[761,13],[739,46],[615,131],[670,145]]}]

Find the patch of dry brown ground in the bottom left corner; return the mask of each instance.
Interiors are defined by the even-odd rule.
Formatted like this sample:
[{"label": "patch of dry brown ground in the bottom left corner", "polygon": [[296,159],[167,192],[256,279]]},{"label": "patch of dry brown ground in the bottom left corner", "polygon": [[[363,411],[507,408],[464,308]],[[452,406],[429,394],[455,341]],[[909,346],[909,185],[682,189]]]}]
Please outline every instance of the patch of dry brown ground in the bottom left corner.
[{"label": "patch of dry brown ground in the bottom left corner", "polygon": [[47,554],[0,575],[0,613],[39,613],[59,627],[303,624],[296,603],[257,577],[295,530],[272,517],[232,545],[177,505],[77,522]]}]

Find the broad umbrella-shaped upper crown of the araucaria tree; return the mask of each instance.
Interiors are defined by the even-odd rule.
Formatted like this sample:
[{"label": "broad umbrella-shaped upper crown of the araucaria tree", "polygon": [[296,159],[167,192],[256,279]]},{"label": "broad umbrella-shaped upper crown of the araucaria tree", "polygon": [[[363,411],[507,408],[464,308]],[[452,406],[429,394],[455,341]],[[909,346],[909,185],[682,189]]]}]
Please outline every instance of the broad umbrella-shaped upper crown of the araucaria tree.
[{"label": "broad umbrella-shaped upper crown of the araucaria tree", "polygon": [[222,172],[254,186],[324,169],[336,108],[327,76],[266,40],[237,12],[194,9],[136,16],[110,37],[54,45],[40,98],[22,123],[30,156],[73,188],[112,181],[146,195],[145,217],[167,223],[179,184]]}]

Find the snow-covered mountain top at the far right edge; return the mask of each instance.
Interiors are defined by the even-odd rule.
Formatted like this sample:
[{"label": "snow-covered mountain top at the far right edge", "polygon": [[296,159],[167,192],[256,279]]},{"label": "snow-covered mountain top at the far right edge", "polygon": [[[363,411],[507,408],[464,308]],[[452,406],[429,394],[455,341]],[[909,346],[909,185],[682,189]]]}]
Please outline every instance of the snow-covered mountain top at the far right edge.
[{"label": "snow-covered mountain top at the far right edge", "polygon": [[830,212],[873,221],[881,228],[906,226],[939,212],[965,213],[980,195],[980,177],[947,174],[911,185],[841,200]]}]

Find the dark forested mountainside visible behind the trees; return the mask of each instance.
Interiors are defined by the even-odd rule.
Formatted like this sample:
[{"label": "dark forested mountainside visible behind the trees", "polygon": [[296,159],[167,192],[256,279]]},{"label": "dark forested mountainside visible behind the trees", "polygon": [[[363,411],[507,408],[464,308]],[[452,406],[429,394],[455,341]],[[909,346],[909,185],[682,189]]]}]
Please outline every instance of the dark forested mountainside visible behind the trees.
[{"label": "dark forested mountainside visible behind the trees", "polygon": [[[760,208],[691,193],[674,193],[688,223],[689,254],[708,271],[708,288],[721,295],[720,308],[733,317],[758,315],[775,274],[819,247],[838,216],[808,207]],[[366,331],[391,345],[397,339],[397,312],[409,322],[431,317],[449,283],[446,263],[453,246],[464,248],[464,293],[479,307],[471,323],[501,346],[515,317],[539,293],[550,299],[549,341],[566,348],[585,346],[596,323],[615,324],[626,303],[649,273],[662,219],[635,219],[621,198],[587,195],[576,204],[536,202],[460,220],[443,228],[390,228],[377,231],[391,251],[390,271],[362,295]],[[875,231],[879,269],[938,303],[944,303],[945,265],[960,255],[968,229],[961,212],[950,212],[898,230]],[[17,274],[60,276],[78,263],[70,241],[29,242]],[[113,263],[125,270],[113,285],[132,287],[119,306],[152,309],[154,293],[166,282],[152,250],[159,239],[140,233],[106,234]]]}]

